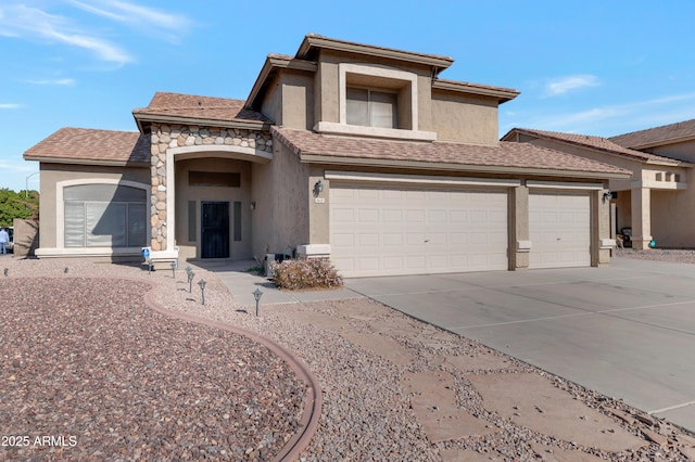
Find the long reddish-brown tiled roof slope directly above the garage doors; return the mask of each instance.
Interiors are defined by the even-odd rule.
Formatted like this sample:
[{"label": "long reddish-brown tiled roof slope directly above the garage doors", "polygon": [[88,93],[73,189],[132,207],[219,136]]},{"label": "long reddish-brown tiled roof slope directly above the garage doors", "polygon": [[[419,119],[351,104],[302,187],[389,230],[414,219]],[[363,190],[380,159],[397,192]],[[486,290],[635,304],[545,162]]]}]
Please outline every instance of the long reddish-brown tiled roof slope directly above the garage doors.
[{"label": "long reddish-brown tiled roof slope directly above the garage doors", "polygon": [[496,171],[509,174],[629,177],[631,172],[608,164],[531,143],[500,145],[417,143],[329,137],[305,130],[271,128],[286,146],[307,162],[407,166],[426,169]]}]

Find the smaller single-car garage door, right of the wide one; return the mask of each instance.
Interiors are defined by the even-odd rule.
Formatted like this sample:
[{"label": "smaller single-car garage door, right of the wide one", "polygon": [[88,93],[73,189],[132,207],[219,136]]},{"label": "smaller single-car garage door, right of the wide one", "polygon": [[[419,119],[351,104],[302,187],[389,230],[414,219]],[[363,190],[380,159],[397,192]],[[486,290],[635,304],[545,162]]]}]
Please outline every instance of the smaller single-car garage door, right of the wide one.
[{"label": "smaller single-car garage door, right of the wide one", "polygon": [[531,192],[530,268],[591,266],[589,193]]}]

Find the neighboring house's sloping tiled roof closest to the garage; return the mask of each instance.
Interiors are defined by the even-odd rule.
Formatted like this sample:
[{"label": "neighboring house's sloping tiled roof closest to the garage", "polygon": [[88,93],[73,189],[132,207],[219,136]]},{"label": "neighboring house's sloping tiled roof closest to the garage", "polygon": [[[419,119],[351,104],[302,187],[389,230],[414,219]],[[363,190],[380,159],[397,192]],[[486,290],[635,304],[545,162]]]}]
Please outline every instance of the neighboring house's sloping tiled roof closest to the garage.
[{"label": "neighboring house's sloping tiled roof closest to the garage", "polygon": [[546,140],[561,141],[565,143],[573,144],[576,146],[587,147],[596,151],[603,151],[608,154],[629,157],[640,162],[659,163],[659,164],[666,163],[666,164],[672,164],[672,165],[681,164],[680,161],[677,161],[670,157],[664,157],[655,154],[645,153],[642,151],[631,150],[629,147],[621,146],[620,144],[617,144],[606,138],[592,137],[589,134],[561,133],[557,131],[533,130],[529,128],[513,128],[507,132],[507,134],[502,137],[502,139],[508,140],[514,133],[528,134],[530,137],[542,138]]}]

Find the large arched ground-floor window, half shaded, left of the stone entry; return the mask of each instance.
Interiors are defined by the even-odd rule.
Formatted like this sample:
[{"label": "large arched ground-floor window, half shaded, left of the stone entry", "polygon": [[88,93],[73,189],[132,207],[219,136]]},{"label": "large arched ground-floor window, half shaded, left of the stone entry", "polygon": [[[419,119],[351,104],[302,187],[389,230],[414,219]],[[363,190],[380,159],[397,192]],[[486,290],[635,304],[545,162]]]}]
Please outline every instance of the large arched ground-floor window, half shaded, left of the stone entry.
[{"label": "large arched ground-floor window, half shaded, left of the stone entry", "polygon": [[141,247],[147,241],[146,191],[117,184],[63,190],[65,247]]}]

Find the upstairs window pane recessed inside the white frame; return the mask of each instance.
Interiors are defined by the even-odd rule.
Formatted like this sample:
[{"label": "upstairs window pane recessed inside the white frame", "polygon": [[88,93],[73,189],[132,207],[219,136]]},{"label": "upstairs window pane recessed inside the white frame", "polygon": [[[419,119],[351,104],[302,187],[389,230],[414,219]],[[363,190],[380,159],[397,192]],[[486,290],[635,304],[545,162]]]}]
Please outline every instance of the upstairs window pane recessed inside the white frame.
[{"label": "upstairs window pane recessed inside the white frame", "polygon": [[396,93],[348,88],[348,124],[364,127],[397,128]]}]

